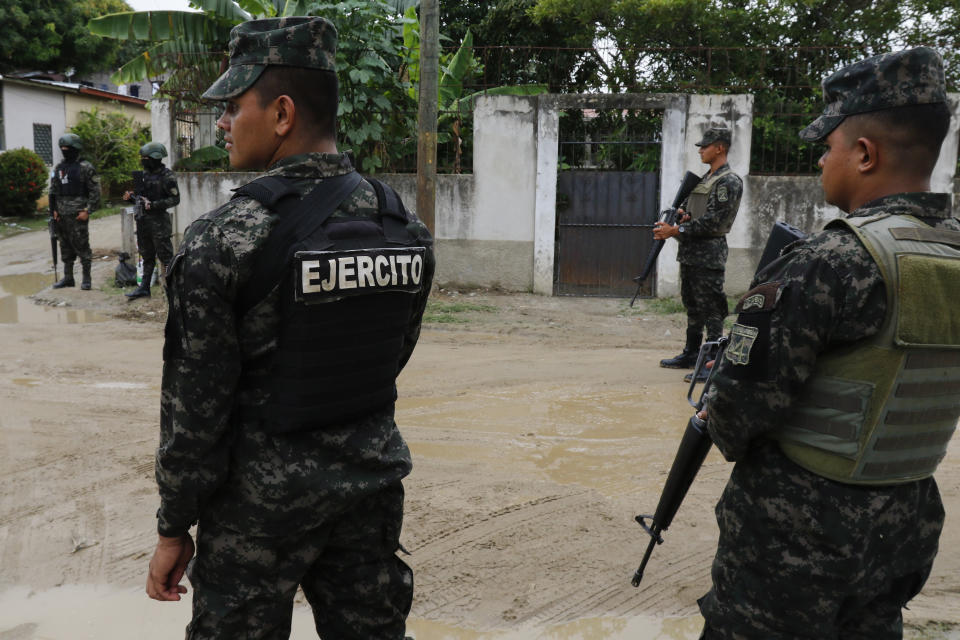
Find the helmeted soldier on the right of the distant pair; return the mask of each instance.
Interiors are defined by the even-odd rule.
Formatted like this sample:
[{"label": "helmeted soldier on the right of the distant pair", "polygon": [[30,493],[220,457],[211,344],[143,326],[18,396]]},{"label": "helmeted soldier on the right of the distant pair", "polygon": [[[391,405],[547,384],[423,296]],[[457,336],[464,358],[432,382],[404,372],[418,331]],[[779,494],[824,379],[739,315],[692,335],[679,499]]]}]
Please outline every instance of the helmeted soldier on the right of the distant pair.
[{"label": "helmeted soldier on the right of the distant pair", "polygon": [[160,258],[161,277],[173,258],[173,245],[170,243],[173,229],[167,209],[180,204],[180,190],[177,188],[177,175],[163,165],[166,157],[167,148],[159,142],[148,142],[140,147],[143,193],[127,191],[123,194],[124,200],[139,196],[143,207],[137,218],[137,250],[143,258],[143,278],[140,286],[127,294],[131,300],[149,298],[157,258]]}]

